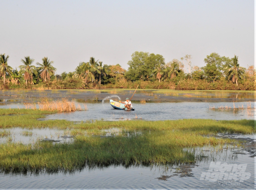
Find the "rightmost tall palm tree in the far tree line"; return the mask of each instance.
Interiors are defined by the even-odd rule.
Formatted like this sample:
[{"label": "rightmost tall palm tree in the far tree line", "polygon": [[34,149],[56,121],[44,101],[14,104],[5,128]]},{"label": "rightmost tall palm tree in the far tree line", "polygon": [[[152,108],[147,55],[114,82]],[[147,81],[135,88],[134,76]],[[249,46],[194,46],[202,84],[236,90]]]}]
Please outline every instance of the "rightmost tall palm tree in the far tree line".
[{"label": "rightmost tall palm tree in the far tree line", "polygon": [[244,78],[245,68],[239,66],[238,63],[238,56],[231,59],[231,62],[227,63],[227,65],[224,66],[224,70],[227,74],[228,80],[231,80],[233,83],[236,83],[236,86],[238,86],[238,79]]}]

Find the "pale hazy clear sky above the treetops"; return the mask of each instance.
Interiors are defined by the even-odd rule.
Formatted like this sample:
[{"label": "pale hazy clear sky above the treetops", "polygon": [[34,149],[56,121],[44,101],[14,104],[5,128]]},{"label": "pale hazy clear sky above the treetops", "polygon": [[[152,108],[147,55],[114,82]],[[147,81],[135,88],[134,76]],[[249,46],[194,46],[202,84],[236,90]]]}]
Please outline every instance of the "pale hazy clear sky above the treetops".
[{"label": "pale hazy clear sky above the treetops", "polygon": [[0,54],[18,68],[25,56],[53,61],[56,74],[90,57],[127,62],[135,51],[165,62],[192,56],[205,66],[213,52],[254,65],[254,0],[0,0]]}]

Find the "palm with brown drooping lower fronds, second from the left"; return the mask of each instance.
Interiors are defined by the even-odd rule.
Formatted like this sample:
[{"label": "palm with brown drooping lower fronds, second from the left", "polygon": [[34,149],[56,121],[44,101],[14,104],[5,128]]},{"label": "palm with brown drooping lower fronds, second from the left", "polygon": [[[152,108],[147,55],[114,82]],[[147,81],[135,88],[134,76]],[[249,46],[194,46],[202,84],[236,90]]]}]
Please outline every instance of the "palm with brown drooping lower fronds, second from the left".
[{"label": "palm with brown drooping lower fronds, second from the left", "polygon": [[34,59],[30,59],[29,56],[25,57],[24,59],[21,59],[21,62],[24,65],[20,65],[20,74],[24,74],[24,80],[26,80],[26,85],[27,85],[27,80],[32,80],[33,83],[33,73],[37,74],[37,68],[32,65],[34,62]]}]

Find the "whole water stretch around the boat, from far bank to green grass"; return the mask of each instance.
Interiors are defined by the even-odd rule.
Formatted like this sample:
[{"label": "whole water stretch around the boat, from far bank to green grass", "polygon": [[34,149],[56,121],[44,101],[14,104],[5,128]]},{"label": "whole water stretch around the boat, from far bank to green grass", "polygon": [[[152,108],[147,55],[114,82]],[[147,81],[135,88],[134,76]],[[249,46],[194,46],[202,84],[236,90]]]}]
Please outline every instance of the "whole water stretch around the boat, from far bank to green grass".
[{"label": "whole water stretch around the boat, from far bank to green grass", "polygon": [[[104,92],[107,91],[107,92]],[[111,94],[116,93],[116,94]],[[159,93],[162,92],[162,93]],[[133,90],[1,90],[0,108],[22,108],[23,103],[33,103],[48,98],[59,100],[67,98],[77,104],[86,104],[87,111],[57,113],[47,116],[47,119],[66,119],[70,121],[118,119],[143,120],[174,120],[174,119],[256,119],[255,93],[239,91],[186,91],[181,90],[139,90],[133,97],[135,111],[114,110],[109,99],[118,101],[119,97],[125,100]],[[111,97],[107,98],[106,97]],[[115,99],[116,97],[116,99]],[[102,100],[103,103],[102,103]],[[140,103],[140,101],[144,103]],[[236,109],[233,109],[235,105]],[[253,109],[247,109],[250,105]],[[218,109],[228,106],[230,109]],[[239,107],[244,109],[238,109]],[[81,106],[83,108],[83,106]],[[215,109],[211,109],[215,108]]]}]

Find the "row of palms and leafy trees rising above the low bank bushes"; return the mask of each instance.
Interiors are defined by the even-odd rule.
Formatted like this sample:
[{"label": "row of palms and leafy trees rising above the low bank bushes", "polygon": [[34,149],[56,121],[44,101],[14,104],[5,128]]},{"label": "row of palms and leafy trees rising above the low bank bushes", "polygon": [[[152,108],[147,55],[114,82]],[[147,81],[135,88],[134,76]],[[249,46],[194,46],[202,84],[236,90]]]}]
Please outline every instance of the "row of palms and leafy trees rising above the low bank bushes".
[{"label": "row of palms and leafy trees rising above the low bank bushes", "polygon": [[[62,72],[55,74],[56,68],[53,61],[44,57],[42,62],[33,65],[34,59],[29,56],[21,59],[22,65],[19,71],[8,65],[9,56],[0,54],[0,85],[2,88],[33,85],[65,81],[66,83],[79,83],[81,87],[101,87],[108,84],[120,82],[148,81],[158,83],[173,83],[178,85],[181,81],[194,80],[214,83],[218,81],[230,81],[236,86],[250,81],[255,86],[255,68],[239,66],[238,56],[233,58],[211,53],[204,59],[205,66],[199,68],[192,66],[192,56],[186,55],[180,60],[173,59],[165,63],[160,54],[147,52],[134,52],[128,61],[129,68],[126,71],[119,64],[103,65],[102,61],[90,57],[88,62],[80,62],[73,72]],[[6,85],[6,83],[8,85]],[[8,86],[8,87],[6,87]],[[118,86],[118,85],[117,85]]]}]

